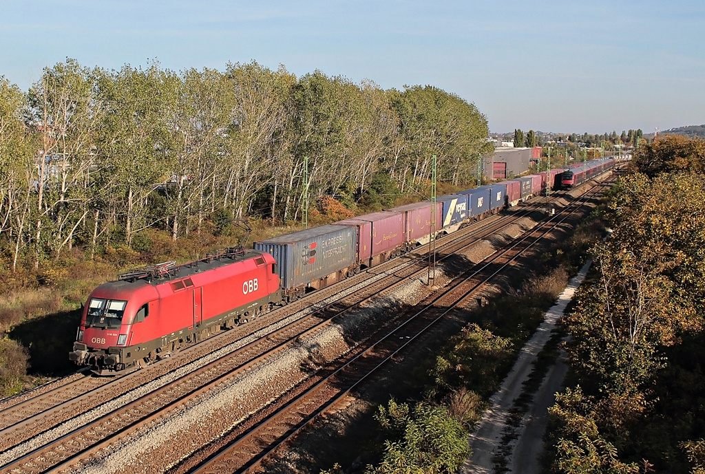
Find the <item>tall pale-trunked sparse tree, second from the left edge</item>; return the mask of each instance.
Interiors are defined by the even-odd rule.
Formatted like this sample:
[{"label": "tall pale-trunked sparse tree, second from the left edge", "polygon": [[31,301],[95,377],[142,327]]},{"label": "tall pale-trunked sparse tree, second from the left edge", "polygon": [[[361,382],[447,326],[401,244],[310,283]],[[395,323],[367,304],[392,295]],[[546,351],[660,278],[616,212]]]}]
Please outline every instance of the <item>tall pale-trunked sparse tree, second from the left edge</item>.
[{"label": "tall pale-trunked sparse tree, second from the left edge", "polygon": [[[90,211],[95,137],[104,107],[94,71],[73,59],[45,68],[27,94],[27,124],[38,139],[35,154],[35,268],[45,252],[58,256]],[[32,173],[33,174],[33,173]]]}]

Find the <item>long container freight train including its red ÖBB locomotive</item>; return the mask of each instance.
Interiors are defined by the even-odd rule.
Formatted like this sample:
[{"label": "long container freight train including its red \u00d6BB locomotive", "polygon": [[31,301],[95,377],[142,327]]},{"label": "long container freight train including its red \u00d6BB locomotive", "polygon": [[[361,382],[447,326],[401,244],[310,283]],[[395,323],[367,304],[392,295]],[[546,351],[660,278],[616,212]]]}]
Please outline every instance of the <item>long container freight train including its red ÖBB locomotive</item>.
[{"label": "long container freight train including its red \u00d6BB locomotive", "polygon": [[87,299],[69,358],[118,375],[171,356],[273,306],[450,233],[546,189],[573,187],[613,160],[498,182],[433,204],[422,201],[219,251],[183,265],[166,262],[119,275]]}]

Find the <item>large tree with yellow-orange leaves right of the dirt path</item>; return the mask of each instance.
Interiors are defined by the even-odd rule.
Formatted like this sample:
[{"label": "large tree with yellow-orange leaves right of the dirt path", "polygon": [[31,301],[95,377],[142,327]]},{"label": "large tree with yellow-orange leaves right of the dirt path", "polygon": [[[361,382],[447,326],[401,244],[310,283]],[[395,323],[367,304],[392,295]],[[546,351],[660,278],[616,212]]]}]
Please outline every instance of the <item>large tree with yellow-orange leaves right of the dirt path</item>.
[{"label": "large tree with yellow-orange leaves right of the dirt path", "polygon": [[567,319],[576,368],[611,390],[641,387],[659,348],[703,326],[705,190],[692,175],[625,177],[610,204],[610,239],[596,247],[600,285]]}]

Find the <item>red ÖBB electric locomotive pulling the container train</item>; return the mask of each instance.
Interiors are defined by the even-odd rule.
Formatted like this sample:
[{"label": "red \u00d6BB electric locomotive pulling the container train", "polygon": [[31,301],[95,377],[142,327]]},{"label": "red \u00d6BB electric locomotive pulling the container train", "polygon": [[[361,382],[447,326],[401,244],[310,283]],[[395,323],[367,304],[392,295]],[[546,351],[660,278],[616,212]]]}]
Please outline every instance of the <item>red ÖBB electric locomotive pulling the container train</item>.
[{"label": "red \u00d6BB electric locomotive pulling the container train", "polygon": [[185,265],[139,268],[93,290],[69,358],[117,375],[279,303],[276,262],[264,252],[228,249]]}]

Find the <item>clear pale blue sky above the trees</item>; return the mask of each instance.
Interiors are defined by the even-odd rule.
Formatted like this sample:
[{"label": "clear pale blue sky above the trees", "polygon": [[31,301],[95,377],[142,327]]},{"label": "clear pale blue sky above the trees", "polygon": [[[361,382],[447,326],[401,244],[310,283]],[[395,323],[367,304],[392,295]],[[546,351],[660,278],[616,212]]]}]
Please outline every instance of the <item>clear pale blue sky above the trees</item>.
[{"label": "clear pale blue sky above the trees", "polygon": [[26,91],[67,57],[434,85],[492,132],[705,123],[703,0],[0,0],[0,75]]}]

